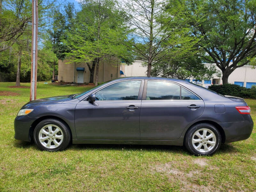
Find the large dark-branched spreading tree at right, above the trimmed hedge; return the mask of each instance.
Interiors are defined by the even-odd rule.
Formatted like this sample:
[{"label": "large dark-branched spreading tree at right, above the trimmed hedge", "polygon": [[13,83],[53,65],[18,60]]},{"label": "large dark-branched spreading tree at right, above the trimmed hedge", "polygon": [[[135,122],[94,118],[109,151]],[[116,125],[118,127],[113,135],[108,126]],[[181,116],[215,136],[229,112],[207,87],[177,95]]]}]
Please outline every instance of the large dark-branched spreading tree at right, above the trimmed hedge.
[{"label": "large dark-branched spreading tree at right, above the trimmed hedge", "polygon": [[[188,10],[191,30],[206,52],[200,56],[216,63],[227,84],[228,76],[256,55],[256,1],[188,1]],[[199,23],[198,18],[204,20]]]}]

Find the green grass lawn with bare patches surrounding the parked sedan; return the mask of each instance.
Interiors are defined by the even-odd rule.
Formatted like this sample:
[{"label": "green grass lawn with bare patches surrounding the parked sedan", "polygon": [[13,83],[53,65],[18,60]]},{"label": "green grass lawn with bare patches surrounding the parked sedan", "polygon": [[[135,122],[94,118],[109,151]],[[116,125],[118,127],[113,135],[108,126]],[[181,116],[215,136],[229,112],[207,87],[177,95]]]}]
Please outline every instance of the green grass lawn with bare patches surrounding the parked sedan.
[{"label": "green grass lawn with bare patches surrounding the parked sedan", "polygon": [[[223,144],[211,157],[155,145],[84,144],[61,152],[39,151],[33,143],[14,139],[13,120],[29,101],[29,88],[8,88],[12,85],[0,83],[0,191],[256,190],[255,126],[249,139]],[[39,83],[37,98],[88,88]],[[256,100],[246,102],[256,123]]]}]

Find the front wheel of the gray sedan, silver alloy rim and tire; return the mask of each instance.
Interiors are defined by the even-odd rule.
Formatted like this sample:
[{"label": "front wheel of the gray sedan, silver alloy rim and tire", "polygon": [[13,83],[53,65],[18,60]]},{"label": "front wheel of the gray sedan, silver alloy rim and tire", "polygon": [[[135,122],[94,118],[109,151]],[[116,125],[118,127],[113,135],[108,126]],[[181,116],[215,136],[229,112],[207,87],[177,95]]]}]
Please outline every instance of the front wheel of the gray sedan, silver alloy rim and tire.
[{"label": "front wheel of the gray sedan, silver alloy rim and tire", "polygon": [[63,150],[70,140],[71,132],[68,126],[57,119],[45,119],[37,124],[34,130],[34,141],[41,150]]}]

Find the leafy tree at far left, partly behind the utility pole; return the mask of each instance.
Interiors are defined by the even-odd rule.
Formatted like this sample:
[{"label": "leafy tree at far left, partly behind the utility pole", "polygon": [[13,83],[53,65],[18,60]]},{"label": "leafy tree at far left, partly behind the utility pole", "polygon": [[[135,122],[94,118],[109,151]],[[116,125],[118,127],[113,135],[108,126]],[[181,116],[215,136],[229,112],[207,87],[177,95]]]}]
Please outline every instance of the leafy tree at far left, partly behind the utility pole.
[{"label": "leafy tree at far left, partly behind the utility pole", "polygon": [[[38,4],[39,38],[44,35],[45,27],[48,24],[47,19],[53,5],[54,0],[45,0]],[[15,63],[17,66],[16,86],[20,86],[22,68],[23,81],[30,80],[28,75],[30,75],[31,66],[31,6],[30,0],[6,0],[3,4],[0,1],[0,13],[2,13],[0,14],[0,52],[3,52],[1,55],[7,56],[7,49],[9,49],[9,60],[4,57],[3,67],[7,68],[6,72],[13,75],[15,71],[11,66]],[[38,75],[40,74],[41,71]]]}]

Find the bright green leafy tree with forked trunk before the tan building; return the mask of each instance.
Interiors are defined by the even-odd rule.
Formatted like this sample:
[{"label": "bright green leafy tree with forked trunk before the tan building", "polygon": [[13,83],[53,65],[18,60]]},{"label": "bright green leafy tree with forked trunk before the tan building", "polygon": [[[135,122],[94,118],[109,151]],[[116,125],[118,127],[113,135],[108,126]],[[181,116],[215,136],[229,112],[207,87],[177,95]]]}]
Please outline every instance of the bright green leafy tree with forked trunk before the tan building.
[{"label": "bright green leafy tree with forked trunk before the tan building", "polygon": [[121,58],[129,61],[128,48],[116,41],[117,30],[125,28],[120,12],[112,0],[80,1],[81,11],[62,42],[68,47],[65,55],[71,61],[85,62],[90,70],[90,83],[98,84],[100,60],[119,63]]}]

